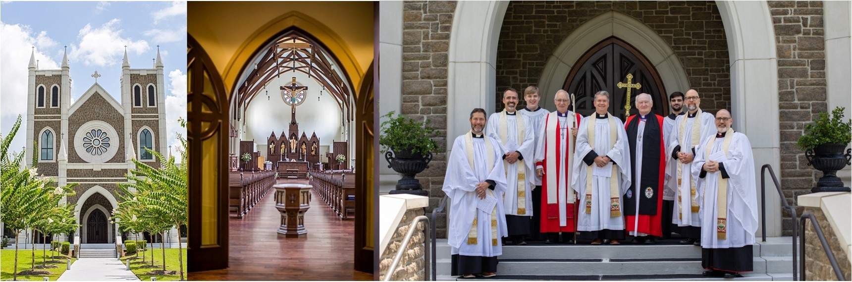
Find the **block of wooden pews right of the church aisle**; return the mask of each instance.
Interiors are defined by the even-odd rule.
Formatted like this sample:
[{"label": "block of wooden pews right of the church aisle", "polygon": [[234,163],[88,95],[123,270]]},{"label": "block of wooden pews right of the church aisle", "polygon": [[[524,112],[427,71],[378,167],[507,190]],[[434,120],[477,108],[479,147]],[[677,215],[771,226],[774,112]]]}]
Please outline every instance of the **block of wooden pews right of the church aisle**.
[{"label": "block of wooden pews right of the church aisle", "polygon": [[[343,219],[354,218],[355,174],[342,170],[311,171],[310,183],[320,196]],[[353,216],[349,216],[352,214]]]}]

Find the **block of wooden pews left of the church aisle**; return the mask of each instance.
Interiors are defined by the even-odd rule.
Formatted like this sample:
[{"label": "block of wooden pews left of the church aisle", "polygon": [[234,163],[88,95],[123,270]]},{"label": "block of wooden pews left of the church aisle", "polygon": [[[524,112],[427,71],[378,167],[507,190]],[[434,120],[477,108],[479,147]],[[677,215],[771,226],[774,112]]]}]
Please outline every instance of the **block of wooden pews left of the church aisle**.
[{"label": "block of wooden pews left of the church aisle", "polygon": [[242,218],[275,184],[275,173],[231,172],[228,175],[228,211]]}]

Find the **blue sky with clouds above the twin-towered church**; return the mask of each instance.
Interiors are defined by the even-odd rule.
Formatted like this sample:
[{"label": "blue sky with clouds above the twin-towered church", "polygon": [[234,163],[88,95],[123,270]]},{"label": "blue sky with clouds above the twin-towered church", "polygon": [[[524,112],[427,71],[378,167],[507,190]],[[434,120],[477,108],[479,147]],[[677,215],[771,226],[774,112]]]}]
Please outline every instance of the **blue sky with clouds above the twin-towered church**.
[{"label": "blue sky with clouds above the twin-towered church", "polygon": [[[58,68],[68,46],[72,100],[95,82],[121,101],[119,79],[124,46],[131,68],[165,66],[167,131],[176,144],[178,117],[186,118],[186,2],[3,2],[0,3],[0,131],[6,134],[18,114],[26,118],[26,75],[32,46],[40,69]],[[26,123],[24,124],[26,126]],[[20,129],[12,147],[24,147]]]}]

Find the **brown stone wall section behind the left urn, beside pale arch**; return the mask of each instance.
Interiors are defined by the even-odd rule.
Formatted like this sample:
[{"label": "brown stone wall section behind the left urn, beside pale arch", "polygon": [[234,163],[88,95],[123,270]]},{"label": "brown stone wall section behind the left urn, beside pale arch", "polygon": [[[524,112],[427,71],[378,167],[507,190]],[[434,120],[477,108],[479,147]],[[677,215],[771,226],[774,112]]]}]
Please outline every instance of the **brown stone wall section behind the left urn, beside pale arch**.
[{"label": "brown stone wall section behind the left urn, beside pale arch", "polygon": [[[402,107],[400,113],[428,120],[438,129],[433,138],[439,148],[429,169],[417,175],[429,191],[429,210],[438,206],[446,172],[446,78],[455,1],[405,1],[402,27]],[[444,216],[440,216],[443,218]],[[446,223],[436,222],[438,237],[446,235]]]}]

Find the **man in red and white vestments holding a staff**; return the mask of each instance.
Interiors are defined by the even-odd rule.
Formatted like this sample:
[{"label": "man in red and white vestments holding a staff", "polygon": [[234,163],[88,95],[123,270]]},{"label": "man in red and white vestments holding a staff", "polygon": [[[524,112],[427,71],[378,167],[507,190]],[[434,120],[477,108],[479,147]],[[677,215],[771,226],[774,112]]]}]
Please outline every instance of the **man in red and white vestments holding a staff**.
[{"label": "man in red and white vestments holding a staff", "polygon": [[[577,195],[571,187],[574,143],[580,118],[568,110],[571,105],[565,90],[556,91],[553,97],[556,112],[544,116],[543,129],[538,132],[536,145],[536,175],[543,176],[543,197],[538,199],[541,233],[546,234],[545,244],[574,239],[577,224]],[[563,237],[559,239],[559,234]]]}]

